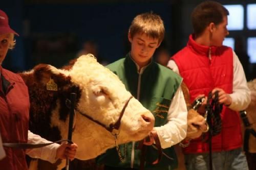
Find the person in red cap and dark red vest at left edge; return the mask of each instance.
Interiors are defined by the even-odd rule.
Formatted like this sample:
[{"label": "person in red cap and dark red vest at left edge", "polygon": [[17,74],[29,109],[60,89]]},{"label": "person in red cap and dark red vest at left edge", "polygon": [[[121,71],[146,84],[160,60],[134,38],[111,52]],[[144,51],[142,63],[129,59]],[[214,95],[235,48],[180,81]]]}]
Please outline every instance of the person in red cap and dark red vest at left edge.
[{"label": "person in red cap and dark red vest at left edge", "polygon": [[[15,45],[14,35],[18,34],[9,26],[8,16],[0,10],[0,135],[3,143],[48,143],[50,141],[28,130],[29,94],[23,79],[4,69],[4,61],[9,49]],[[0,143],[1,144],[1,143]],[[3,148],[2,144],[1,147]],[[27,170],[25,154],[34,158],[55,162],[57,159],[74,159],[77,144],[54,143],[37,149],[12,149],[0,147],[1,169]]]}]

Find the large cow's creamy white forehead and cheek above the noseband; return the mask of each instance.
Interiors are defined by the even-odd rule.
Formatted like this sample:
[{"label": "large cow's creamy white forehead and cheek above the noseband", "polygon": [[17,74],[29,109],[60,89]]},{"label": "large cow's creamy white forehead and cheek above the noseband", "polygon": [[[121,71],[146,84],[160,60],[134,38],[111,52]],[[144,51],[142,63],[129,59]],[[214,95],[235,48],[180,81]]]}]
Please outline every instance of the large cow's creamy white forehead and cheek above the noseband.
[{"label": "large cow's creamy white forehead and cheek above the noseband", "polygon": [[111,70],[99,64],[92,55],[86,55],[77,59],[70,70],[70,78],[81,90],[77,106],[80,111],[104,125],[117,121],[131,93]]}]

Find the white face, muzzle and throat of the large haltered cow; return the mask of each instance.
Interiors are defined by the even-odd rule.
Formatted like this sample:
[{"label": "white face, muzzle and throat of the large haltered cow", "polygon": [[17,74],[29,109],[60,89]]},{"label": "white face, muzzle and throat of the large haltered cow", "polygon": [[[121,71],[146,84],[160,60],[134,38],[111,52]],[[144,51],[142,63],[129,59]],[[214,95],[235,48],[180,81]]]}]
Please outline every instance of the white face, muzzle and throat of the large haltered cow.
[{"label": "white face, muzzle and throat of the large haltered cow", "polygon": [[[125,102],[131,97],[123,83],[92,56],[81,56],[70,70],[71,82],[79,86],[77,109],[109,127],[117,122]],[[74,141],[78,159],[90,159],[115,146],[114,136],[76,111]],[[154,116],[135,98],[127,105],[121,119],[118,143],[141,140],[154,126]],[[86,140],[84,140],[86,139]],[[88,142],[92,141],[89,146]],[[86,150],[87,152],[84,152]]]}]

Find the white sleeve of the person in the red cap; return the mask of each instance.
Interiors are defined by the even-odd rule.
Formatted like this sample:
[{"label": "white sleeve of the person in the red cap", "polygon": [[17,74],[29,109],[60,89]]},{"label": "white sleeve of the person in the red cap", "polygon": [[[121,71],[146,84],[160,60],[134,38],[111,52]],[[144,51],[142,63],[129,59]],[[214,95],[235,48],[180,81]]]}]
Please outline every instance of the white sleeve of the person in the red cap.
[{"label": "white sleeve of the person in the red cap", "polygon": [[[50,143],[51,141],[42,138],[39,135],[36,135],[30,131],[28,131],[28,143]],[[28,154],[32,158],[39,158],[42,160],[49,161],[51,163],[55,163],[57,159],[56,150],[59,147],[59,144],[53,143],[48,145],[47,147],[28,149],[26,150],[26,154]]]}]

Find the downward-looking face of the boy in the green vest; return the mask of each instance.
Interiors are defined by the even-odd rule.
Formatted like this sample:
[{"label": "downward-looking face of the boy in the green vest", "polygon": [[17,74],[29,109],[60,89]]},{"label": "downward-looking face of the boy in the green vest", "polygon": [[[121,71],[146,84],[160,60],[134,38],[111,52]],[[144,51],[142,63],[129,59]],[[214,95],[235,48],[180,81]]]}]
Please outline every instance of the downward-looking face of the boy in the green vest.
[{"label": "downward-looking face of the boy in the green vest", "polygon": [[141,67],[146,66],[160,45],[158,39],[150,38],[146,34],[135,34],[131,37],[128,34],[128,39],[131,42],[131,56],[133,60]]}]

